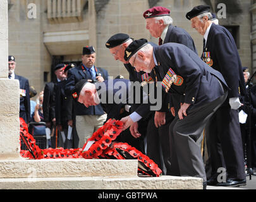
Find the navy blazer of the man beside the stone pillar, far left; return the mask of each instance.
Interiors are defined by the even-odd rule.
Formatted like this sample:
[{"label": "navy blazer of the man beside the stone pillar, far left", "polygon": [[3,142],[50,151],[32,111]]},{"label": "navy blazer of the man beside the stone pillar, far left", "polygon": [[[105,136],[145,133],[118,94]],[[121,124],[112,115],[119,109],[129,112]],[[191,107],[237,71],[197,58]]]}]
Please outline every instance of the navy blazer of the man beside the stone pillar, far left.
[{"label": "navy blazer of the man beside the stone pillar, far left", "polygon": [[20,81],[20,117],[26,123],[30,122],[30,91],[27,78],[15,74],[15,80]]}]

